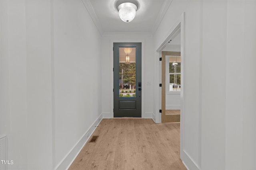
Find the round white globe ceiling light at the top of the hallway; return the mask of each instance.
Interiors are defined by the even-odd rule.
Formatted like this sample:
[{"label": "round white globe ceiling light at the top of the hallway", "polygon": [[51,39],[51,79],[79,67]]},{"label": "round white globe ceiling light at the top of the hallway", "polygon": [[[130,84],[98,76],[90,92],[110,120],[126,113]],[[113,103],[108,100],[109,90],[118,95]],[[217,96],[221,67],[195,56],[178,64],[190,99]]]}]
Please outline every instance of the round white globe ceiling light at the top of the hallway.
[{"label": "round white globe ceiling light at the top of the hallway", "polygon": [[130,2],[125,2],[117,7],[119,17],[124,22],[130,22],[135,18],[137,6]]}]

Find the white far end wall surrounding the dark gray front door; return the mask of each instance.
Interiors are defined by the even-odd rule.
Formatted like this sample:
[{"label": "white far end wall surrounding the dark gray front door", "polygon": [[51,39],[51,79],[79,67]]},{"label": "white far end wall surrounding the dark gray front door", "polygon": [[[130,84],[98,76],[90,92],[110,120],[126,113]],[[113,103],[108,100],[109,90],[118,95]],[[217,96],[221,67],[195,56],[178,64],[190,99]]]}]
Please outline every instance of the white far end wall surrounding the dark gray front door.
[{"label": "white far end wall surrounding the dark gray front door", "polygon": [[[102,37],[102,113],[113,117],[113,42],[142,42],[142,117],[155,117],[154,73],[155,56],[152,36],[142,33],[106,33]],[[151,82],[151,85],[146,85]]]}]

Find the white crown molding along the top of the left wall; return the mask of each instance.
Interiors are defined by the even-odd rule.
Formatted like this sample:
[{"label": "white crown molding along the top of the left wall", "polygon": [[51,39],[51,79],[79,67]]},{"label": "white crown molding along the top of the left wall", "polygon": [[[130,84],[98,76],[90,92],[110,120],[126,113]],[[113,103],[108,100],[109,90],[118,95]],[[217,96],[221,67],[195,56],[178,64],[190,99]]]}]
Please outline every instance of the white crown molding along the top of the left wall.
[{"label": "white crown molding along the top of the left wall", "polygon": [[103,31],[102,31],[100,21],[98,20],[98,17],[96,16],[96,13],[95,13],[94,9],[92,8],[92,4],[91,4],[90,0],[81,0],[81,1],[84,4],[84,7],[86,8],[86,10],[88,11],[90,17],[92,18],[92,21],[94,22],[98,31],[102,35]]}]

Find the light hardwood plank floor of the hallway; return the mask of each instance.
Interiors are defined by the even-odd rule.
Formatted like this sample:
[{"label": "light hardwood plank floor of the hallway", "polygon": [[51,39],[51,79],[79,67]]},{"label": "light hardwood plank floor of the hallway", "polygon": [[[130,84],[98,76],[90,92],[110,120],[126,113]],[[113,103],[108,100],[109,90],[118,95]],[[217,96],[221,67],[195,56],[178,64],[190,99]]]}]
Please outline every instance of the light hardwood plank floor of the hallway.
[{"label": "light hardwood plank floor of the hallway", "polygon": [[180,123],[102,119],[69,170],[186,170],[180,160]]}]

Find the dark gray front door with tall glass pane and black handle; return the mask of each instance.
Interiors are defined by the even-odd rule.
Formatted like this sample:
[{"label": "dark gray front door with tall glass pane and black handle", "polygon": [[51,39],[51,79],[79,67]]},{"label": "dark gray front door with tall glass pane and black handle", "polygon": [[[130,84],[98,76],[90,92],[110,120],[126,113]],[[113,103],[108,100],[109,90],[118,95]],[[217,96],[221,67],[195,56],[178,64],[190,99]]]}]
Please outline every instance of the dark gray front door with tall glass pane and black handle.
[{"label": "dark gray front door with tall glass pane and black handle", "polygon": [[114,117],[141,117],[141,43],[114,43]]}]

